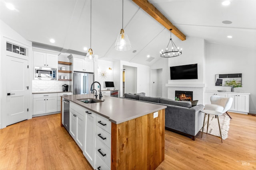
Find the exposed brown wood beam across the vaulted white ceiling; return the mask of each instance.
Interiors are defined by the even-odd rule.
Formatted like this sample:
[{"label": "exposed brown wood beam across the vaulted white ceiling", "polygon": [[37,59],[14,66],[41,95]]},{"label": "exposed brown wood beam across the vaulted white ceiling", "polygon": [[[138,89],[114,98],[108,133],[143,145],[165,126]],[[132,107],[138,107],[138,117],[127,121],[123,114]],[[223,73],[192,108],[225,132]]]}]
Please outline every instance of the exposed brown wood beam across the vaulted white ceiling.
[{"label": "exposed brown wood beam across the vaulted white ceiling", "polygon": [[172,33],[176,35],[182,41],[186,40],[186,36],[158,10],[154,5],[150,4],[148,0],[132,0],[150,16],[152,16],[156,21],[164,25],[168,30],[172,29]]}]

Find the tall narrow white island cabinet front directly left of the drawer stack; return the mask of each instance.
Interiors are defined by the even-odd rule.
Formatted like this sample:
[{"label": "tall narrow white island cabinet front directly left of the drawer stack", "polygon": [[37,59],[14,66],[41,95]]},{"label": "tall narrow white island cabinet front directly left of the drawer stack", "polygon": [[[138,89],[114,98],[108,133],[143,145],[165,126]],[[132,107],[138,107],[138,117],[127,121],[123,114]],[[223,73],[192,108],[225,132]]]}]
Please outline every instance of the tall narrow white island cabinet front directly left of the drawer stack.
[{"label": "tall narrow white island cabinet front directly left of the drawer stack", "polygon": [[96,132],[96,113],[85,111],[85,139],[83,154],[95,169],[95,132]]}]

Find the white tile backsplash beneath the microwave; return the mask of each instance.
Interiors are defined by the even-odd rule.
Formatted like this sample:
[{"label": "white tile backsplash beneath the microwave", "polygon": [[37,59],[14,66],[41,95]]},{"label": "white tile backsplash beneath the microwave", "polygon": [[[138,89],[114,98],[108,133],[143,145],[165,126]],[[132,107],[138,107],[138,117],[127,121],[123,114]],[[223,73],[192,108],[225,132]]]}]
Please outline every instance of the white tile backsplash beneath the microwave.
[{"label": "white tile backsplash beneath the microwave", "polygon": [[[32,92],[61,92],[62,85],[69,83],[69,81],[57,80],[32,80]],[[72,91],[70,86],[68,90]]]}]

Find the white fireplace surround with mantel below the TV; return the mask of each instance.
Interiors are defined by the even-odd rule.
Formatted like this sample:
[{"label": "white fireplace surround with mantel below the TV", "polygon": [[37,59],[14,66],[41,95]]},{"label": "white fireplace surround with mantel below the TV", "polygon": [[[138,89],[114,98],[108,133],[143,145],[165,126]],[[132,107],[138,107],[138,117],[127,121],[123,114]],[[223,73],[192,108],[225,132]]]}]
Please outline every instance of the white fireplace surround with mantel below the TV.
[{"label": "white fireplace surround with mantel below the TV", "polygon": [[179,91],[192,91],[193,100],[198,100],[198,104],[204,104],[204,83],[168,83],[165,85],[168,87],[168,98],[175,98],[175,90]]}]

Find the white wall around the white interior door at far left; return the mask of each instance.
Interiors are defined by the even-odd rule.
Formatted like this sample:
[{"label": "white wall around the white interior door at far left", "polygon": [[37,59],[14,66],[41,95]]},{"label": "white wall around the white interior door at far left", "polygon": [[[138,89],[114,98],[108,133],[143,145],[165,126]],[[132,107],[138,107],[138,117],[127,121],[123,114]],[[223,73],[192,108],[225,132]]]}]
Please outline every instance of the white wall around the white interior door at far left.
[{"label": "white wall around the white interior door at far left", "polygon": [[[19,35],[16,31],[14,31],[11,27],[9,27],[6,23],[4,23],[2,20],[0,20],[0,55],[1,55],[1,59],[0,59],[0,129],[2,128],[2,113],[3,113],[3,100],[6,100],[6,96],[4,95],[4,59],[5,59],[5,51],[6,51],[6,42],[4,41],[4,37],[16,41],[20,44],[24,44],[26,46],[28,46],[28,63],[30,66],[32,66],[31,63],[31,57],[32,57],[32,42],[27,41],[26,39],[24,39],[21,35]],[[29,74],[31,75],[31,74]],[[31,84],[31,79],[32,77],[30,76],[29,80],[30,80],[30,87],[32,86]],[[29,99],[28,99],[28,108],[29,108],[29,112],[28,112],[28,118],[31,119],[32,118],[32,93],[31,93],[31,88],[29,89]]]}]

